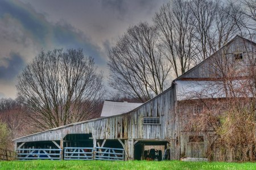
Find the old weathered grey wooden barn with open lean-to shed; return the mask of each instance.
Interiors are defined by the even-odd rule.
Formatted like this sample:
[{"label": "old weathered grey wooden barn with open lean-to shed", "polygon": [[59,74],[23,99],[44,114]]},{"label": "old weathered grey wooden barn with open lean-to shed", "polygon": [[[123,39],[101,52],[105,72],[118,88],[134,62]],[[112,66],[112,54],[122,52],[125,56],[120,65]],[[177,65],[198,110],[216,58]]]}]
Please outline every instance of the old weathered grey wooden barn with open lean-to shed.
[{"label": "old weathered grey wooden barn with open lean-to shed", "polygon": [[[207,88],[218,82],[213,59],[223,55],[230,62],[255,61],[256,44],[236,36],[212,56],[170,84],[170,88],[123,114],[77,122],[14,139],[19,159],[142,160],[204,157],[205,134],[185,130],[189,113],[200,113],[202,96],[224,98]],[[250,53],[250,55],[248,55]],[[208,86],[209,87],[209,86]],[[212,86],[211,86],[212,87]],[[208,89],[205,91],[205,89]],[[220,92],[221,90],[218,90]],[[195,96],[194,94],[201,94]],[[198,139],[197,142],[193,140]]]}]

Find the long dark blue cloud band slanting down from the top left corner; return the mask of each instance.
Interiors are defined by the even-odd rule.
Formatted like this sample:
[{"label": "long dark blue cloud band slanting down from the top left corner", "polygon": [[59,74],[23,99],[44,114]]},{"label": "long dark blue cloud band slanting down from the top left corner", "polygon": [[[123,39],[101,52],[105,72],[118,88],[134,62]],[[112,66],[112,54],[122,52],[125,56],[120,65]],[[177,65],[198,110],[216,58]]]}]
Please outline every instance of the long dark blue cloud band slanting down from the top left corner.
[{"label": "long dark blue cloud band slanting down from the top left corner", "polygon": [[92,56],[97,64],[102,64],[100,48],[71,24],[48,22],[42,14],[22,2],[0,1],[0,11],[0,19],[3,15],[10,15],[18,20],[24,28],[23,33],[30,36],[39,48],[83,48],[86,56]]}]

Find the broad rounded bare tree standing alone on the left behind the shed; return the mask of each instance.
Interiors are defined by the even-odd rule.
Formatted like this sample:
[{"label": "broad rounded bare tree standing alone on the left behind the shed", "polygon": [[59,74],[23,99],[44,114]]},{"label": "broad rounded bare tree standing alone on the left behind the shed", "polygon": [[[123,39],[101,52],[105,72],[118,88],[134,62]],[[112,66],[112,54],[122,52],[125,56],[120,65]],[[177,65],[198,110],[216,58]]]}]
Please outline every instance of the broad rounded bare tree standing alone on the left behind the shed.
[{"label": "broad rounded bare tree standing alone on the left behind the shed", "polygon": [[18,80],[27,119],[40,129],[86,120],[101,98],[102,75],[81,49],[42,51]]}]

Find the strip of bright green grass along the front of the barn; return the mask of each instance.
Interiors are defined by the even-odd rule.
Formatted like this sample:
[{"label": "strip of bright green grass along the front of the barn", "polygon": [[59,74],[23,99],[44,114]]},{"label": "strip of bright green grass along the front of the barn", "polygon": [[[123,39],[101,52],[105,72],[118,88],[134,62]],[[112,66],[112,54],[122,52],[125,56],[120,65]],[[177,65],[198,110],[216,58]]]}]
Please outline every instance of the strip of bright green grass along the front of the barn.
[{"label": "strip of bright green grass along the front of the barn", "polygon": [[184,161],[0,161],[0,169],[256,169],[256,163]]}]

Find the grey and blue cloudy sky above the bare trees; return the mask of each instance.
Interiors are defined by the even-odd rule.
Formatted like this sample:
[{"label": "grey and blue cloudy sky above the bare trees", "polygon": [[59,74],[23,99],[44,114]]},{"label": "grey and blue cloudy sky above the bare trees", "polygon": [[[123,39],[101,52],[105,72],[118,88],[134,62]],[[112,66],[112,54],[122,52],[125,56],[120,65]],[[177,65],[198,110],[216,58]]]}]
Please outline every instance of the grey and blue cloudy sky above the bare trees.
[{"label": "grey and blue cloudy sky above the bare trees", "polygon": [[82,48],[108,77],[108,50],[126,29],[167,0],[0,0],[0,98],[16,97],[16,77],[42,49]]}]

